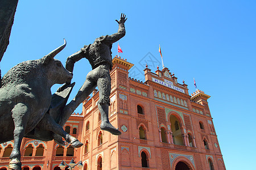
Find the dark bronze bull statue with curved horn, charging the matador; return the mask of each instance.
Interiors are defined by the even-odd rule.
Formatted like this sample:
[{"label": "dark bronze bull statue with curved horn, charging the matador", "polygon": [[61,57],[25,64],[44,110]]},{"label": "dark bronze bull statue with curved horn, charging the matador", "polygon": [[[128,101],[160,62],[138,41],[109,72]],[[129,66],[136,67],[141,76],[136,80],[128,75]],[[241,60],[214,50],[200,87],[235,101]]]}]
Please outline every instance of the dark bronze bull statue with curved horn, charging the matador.
[{"label": "dark bronze bull statue with curved horn, charging the matador", "polygon": [[[82,143],[66,133],[49,113],[51,87],[72,79],[73,74],[53,57],[65,48],[66,41],[43,58],[25,61],[11,68],[2,78],[0,88],[0,143],[14,139],[10,155],[10,169],[22,169],[20,145],[23,137],[54,139],[61,136],[73,147]],[[35,129],[51,131],[51,137],[40,137]],[[37,135],[37,136],[36,136]],[[46,140],[47,141],[47,140]],[[57,143],[63,144],[58,137]],[[59,141],[59,142],[58,142]]]}]

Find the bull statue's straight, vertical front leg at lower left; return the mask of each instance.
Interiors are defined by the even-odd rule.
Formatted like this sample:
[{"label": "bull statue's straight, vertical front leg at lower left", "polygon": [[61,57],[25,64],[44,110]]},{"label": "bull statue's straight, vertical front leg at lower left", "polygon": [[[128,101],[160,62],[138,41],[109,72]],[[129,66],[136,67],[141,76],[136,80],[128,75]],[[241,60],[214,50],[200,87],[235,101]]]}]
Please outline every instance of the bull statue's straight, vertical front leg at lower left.
[{"label": "bull statue's straight, vertical front leg at lower left", "polygon": [[10,155],[10,169],[18,169],[21,170],[20,163],[20,145],[22,142],[22,138],[24,137],[26,124],[27,124],[27,116],[28,116],[28,108],[26,105],[22,103],[18,103],[15,105],[13,110],[11,111],[13,121],[14,121],[14,147],[13,151],[11,151]]}]

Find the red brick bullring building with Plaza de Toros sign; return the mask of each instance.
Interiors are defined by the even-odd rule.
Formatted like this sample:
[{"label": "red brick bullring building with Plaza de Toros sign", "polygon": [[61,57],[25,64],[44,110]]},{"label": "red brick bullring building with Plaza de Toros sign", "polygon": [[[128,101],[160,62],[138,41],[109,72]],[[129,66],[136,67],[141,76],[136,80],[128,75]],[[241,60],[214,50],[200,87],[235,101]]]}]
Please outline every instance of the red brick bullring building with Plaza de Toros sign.
[{"label": "red brick bullring building with Plaza de Toros sign", "polygon": [[[64,129],[84,146],[61,147],[55,142],[24,139],[24,170],[59,169],[61,160],[82,160],[84,169],[225,169],[212,116],[209,95],[187,84],[167,68],[144,69],[145,82],[129,78],[132,63],[114,57],[109,120],[121,130],[115,136],[100,129],[95,90],[72,114]],[[0,145],[0,170],[7,168],[12,142]],[[43,154],[42,154],[43,152]],[[7,156],[7,157],[6,157]]]}]

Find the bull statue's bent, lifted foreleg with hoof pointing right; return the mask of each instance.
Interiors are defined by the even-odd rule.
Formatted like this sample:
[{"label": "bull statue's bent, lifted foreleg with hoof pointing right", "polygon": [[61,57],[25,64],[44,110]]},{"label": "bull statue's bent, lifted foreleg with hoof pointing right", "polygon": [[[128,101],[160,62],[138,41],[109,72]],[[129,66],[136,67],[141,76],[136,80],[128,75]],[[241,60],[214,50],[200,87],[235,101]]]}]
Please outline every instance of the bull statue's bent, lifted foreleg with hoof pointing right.
[{"label": "bull statue's bent, lifted foreleg with hoof pointing right", "polygon": [[46,116],[44,116],[38,125],[40,126],[40,129],[52,131],[54,133],[53,139],[61,145],[64,144],[61,137],[63,137],[68,143],[71,143],[72,147],[81,147],[83,145],[77,138],[72,137],[72,135],[65,132],[63,128],[57,124],[49,114],[46,114]]}]

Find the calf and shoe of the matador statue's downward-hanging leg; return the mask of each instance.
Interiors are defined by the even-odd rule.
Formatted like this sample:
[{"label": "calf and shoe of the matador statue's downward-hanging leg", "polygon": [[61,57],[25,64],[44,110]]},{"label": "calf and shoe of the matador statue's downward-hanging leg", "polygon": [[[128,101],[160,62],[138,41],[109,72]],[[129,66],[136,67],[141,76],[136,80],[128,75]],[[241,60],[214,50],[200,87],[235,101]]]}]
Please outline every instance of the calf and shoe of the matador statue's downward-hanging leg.
[{"label": "calf and shoe of the matador statue's downward-hanging leg", "polygon": [[121,131],[114,128],[109,122],[109,105],[108,104],[98,104],[98,109],[101,113],[101,129],[109,131],[113,135],[121,135]]}]

